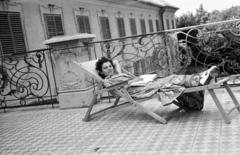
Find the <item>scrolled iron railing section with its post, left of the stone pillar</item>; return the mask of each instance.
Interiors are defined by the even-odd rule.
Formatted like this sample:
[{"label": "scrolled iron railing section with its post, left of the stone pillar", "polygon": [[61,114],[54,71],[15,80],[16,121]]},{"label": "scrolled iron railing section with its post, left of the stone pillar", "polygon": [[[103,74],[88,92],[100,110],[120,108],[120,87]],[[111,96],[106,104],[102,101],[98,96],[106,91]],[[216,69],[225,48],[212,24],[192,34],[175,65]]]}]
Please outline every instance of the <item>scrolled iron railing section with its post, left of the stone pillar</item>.
[{"label": "scrolled iron railing section with its post, left of the stone pillar", "polygon": [[49,49],[0,57],[1,109],[56,104]]}]

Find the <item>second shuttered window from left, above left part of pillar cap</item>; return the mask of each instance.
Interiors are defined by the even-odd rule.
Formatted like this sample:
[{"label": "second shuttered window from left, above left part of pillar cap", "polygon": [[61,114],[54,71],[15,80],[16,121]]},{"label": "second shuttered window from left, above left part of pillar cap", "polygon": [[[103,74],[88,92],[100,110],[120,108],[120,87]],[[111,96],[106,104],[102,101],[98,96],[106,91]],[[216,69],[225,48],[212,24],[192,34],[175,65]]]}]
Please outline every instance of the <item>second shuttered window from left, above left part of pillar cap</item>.
[{"label": "second shuttered window from left, above left part of pillar cap", "polygon": [[44,14],[47,37],[64,35],[62,17],[60,14]]}]

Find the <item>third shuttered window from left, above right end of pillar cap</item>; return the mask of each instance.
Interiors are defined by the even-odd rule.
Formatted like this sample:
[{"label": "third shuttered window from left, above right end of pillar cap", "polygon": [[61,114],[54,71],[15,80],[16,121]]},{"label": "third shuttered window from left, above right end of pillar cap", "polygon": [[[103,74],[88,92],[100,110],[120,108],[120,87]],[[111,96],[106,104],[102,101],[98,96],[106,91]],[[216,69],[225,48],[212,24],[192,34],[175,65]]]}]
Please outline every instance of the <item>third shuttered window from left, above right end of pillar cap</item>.
[{"label": "third shuttered window from left, above right end of pillar cap", "polygon": [[91,33],[88,16],[77,15],[79,33]]}]

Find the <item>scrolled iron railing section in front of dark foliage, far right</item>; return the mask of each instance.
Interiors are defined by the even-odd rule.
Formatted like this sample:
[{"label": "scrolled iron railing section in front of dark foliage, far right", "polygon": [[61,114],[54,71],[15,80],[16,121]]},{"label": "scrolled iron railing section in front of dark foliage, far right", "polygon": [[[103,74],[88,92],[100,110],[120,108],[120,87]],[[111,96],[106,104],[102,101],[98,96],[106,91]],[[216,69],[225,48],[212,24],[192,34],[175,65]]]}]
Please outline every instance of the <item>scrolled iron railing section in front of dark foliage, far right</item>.
[{"label": "scrolled iron railing section in front of dark foliage, far right", "polygon": [[[178,33],[179,53],[189,66],[217,65],[222,75],[240,73],[240,22],[194,28]],[[185,35],[185,37],[183,37]],[[182,52],[184,51],[184,52]],[[184,63],[183,63],[184,64]]]}]

